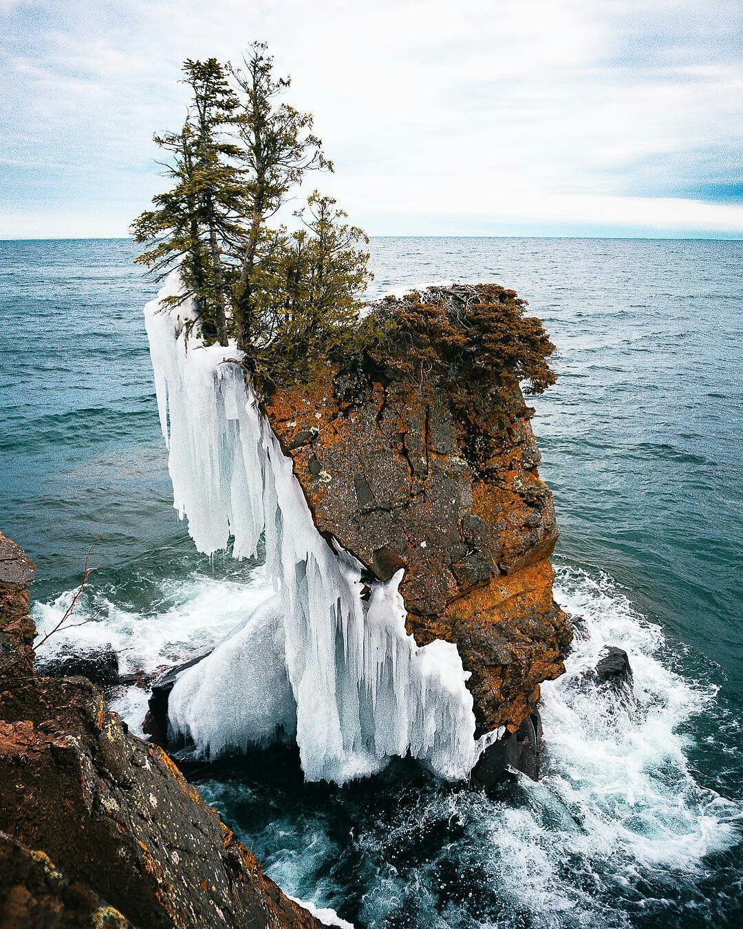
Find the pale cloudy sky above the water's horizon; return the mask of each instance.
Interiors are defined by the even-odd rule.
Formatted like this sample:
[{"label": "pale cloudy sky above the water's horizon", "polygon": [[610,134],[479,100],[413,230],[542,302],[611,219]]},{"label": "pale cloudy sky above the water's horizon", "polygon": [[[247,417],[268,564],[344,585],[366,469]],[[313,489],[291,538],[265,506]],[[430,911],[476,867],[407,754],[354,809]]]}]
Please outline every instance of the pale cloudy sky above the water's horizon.
[{"label": "pale cloudy sky above the water's horizon", "polygon": [[739,0],[0,0],[0,238],[124,236],[266,41],[372,235],[743,238]]}]

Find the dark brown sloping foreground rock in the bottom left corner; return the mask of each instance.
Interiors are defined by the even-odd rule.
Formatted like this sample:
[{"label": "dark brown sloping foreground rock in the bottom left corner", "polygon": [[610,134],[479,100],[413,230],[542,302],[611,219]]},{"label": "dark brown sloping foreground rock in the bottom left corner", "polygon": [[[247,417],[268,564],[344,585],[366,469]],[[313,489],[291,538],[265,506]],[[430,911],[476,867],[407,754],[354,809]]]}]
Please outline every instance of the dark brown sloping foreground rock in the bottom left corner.
[{"label": "dark brown sloping foreground rock in the bottom left corner", "polygon": [[[3,537],[0,551],[0,830],[43,850],[65,880],[143,929],[318,927],[265,877],[165,752],[107,711],[98,687],[35,673],[24,589],[33,565]],[[39,905],[67,920],[35,924],[125,924],[74,922],[69,892],[46,888],[59,910],[23,867],[12,864],[12,880],[29,894],[35,882]],[[13,899],[20,897],[22,889]]]}]

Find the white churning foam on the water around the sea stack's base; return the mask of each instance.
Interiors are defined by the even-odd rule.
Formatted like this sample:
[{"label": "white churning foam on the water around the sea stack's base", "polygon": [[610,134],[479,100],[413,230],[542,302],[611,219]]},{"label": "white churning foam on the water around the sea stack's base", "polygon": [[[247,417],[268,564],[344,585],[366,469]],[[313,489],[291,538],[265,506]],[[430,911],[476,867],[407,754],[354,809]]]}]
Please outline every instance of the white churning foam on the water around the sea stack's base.
[{"label": "white churning foam on the water around the sea stack's base", "polygon": [[[70,595],[54,606],[37,606],[37,621],[52,622]],[[79,618],[98,612],[98,621],[69,635],[84,639],[84,645],[113,641],[127,649],[126,667],[151,668],[165,655],[172,660],[214,644],[248,613],[260,621],[272,595],[262,568],[251,569],[244,582],[203,575],[163,582],[154,599],[172,605],[160,613],[123,610],[96,593],[81,606]],[[714,688],[671,670],[672,651],[661,630],[606,575],[558,567],[555,595],[583,617],[589,637],[576,639],[567,674],[542,686],[545,777],[539,783],[520,777],[517,797],[422,792],[418,805],[412,810],[406,805],[393,822],[356,830],[348,842],[359,846],[371,869],[359,875],[361,883],[369,882],[359,922],[381,924],[412,898],[425,901],[427,924],[442,929],[513,925],[519,913],[535,926],[629,925],[626,898],[634,886],[655,885],[658,893],[670,886],[672,893],[674,880],[694,882],[705,856],[739,836],[740,803],[702,787],[686,760],[691,735],[684,733],[693,731],[698,713],[714,711]],[[250,636],[249,626],[244,635]],[[625,648],[630,656],[635,702],[629,709],[582,678],[605,644]],[[225,682],[230,700],[235,681],[241,684],[240,673]],[[237,693],[240,697],[241,689]],[[146,691],[131,688],[114,704],[136,731],[146,698]],[[210,802],[220,805],[217,795]],[[342,796],[338,802],[343,804]],[[328,812],[321,810],[317,819],[302,814],[297,820],[294,809],[290,818],[278,815],[261,842],[271,849],[263,855],[267,872],[299,896],[317,889],[317,875],[326,874],[320,898],[339,899],[343,888],[334,886],[329,868],[343,848],[337,834],[333,840],[325,834]],[[243,828],[250,842],[251,824]],[[447,836],[441,848],[431,844],[438,833]],[[429,855],[401,872],[395,852],[408,843],[425,846]],[[440,865],[451,857],[473,882],[473,900],[497,888],[506,917],[473,919],[456,887],[437,915]]]}]

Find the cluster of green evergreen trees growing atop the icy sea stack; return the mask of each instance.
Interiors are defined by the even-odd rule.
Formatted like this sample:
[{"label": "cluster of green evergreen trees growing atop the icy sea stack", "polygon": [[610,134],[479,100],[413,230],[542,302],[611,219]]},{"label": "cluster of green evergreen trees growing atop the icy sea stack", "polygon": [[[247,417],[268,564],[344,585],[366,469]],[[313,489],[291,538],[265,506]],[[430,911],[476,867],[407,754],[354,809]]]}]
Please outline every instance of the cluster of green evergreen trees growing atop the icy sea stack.
[{"label": "cluster of green evergreen trees growing atop the icy sea stack", "polygon": [[137,261],[156,278],[177,265],[183,289],[171,300],[193,298],[207,340],[236,335],[247,370],[294,381],[358,348],[368,240],[317,191],[295,214],[303,228],[271,228],[306,172],[332,164],[312,116],[279,99],[290,81],[274,76],[267,46],[254,43],[242,69],[189,59],[184,73],[187,122],[155,138],[173,187],[133,224],[147,245]]}]

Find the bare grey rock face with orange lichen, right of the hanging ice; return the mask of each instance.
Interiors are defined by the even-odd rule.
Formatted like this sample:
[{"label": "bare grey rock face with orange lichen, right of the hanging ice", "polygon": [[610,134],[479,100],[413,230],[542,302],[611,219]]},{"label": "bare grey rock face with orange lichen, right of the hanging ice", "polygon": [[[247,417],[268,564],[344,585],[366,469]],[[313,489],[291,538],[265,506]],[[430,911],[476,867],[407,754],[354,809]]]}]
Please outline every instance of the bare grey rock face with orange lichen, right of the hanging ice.
[{"label": "bare grey rock face with orange lichen, right of the hanging ice", "polygon": [[456,643],[479,732],[516,732],[571,631],[553,600],[553,496],[520,392],[454,409],[419,383],[333,370],[265,402],[315,524],[400,591],[419,645]]}]

